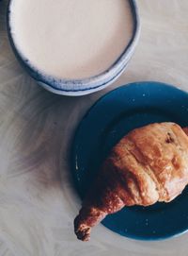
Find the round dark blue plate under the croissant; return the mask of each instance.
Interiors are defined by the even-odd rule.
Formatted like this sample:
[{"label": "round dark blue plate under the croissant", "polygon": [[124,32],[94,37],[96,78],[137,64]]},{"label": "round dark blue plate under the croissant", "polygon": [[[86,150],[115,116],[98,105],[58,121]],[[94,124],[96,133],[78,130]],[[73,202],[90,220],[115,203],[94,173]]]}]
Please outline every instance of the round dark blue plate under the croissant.
[{"label": "round dark blue plate under the croissant", "polygon": [[[188,126],[188,94],[157,82],[122,86],[104,95],[77,129],[72,159],[78,193],[86,195],[99,166],[113,145],[133,128],[172,121]],[[188,189],[170,203],[125,207],[102,224],[133,239],[156,240],[188,230]]]}]

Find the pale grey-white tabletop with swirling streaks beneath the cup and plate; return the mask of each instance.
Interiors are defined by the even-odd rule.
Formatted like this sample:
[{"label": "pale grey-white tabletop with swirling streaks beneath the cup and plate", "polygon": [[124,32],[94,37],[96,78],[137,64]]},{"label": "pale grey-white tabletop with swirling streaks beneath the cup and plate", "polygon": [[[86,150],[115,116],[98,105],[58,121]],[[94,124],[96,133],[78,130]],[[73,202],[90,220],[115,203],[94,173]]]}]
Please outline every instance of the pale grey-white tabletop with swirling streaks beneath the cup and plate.
[{"label": "pale grey-white tabletop with swirling streaks beneath the cup and plate", "polygon": [[71,137],[88,107],[130,81],[164,81],[188,91],[188,1],[138,4],[142,33],[127,71],[100,93],[70,98],[44,91],[24,73],[8,45],[6,0],[0,3],[1,256],[187,255],[188,233],[138,242],[100,225],[89,243],[73,234],[80,200],[68,158]]}]

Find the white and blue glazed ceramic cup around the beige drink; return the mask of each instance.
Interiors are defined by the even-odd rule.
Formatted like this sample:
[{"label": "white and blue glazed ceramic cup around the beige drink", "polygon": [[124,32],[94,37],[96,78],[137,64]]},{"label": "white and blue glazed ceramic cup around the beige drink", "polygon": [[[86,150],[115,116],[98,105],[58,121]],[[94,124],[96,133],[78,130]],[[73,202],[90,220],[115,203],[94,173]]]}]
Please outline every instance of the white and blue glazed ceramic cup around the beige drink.
[{"label": "white and blue glazed ceramic cup around the beige drink", "polygon": [[11,26],[9,23],[10,20],[10,5],[12,0],[9,0],[8,5],[8,38],[10,45],[14,51],[15,56],[20,61],[21,65],[24,69],[28,72],[28,74],[36,79],[36,81],[44,87],[45,89],[53,92],[55,94],[64,94],[64,95],[83,95],[83,94],[91,94],[96,91],[100,91],[103,88],[107,87],[111,83],[113,83],[125,70],[127,63],[133,56],[133,51],[135,49],[136,44],[138,43],[139,34],[140,34],[140,21],[138,15],[138,9],[136,6],[136,0],[129,0],[130,6],[133,13],[133,37],[130,43],[127,45],[126,49],[119,56],[118,60],[112,64],[112,66],[103,72],[102,74],[89,77],[84,79],[57,79],[55,77],[46,76],[42,74],[39,70],[35,67],[31,66],[29,60],[27,60],[23,54],[19,51],[16,47],[13,36],[11,33]]}]

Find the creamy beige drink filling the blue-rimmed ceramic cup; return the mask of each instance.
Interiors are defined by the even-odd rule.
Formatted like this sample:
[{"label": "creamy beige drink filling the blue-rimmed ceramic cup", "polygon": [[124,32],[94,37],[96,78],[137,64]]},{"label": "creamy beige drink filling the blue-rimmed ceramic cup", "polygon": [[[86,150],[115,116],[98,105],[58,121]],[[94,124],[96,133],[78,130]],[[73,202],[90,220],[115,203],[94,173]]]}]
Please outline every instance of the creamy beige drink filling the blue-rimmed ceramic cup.
[{"label": "creamy beige drink filling the blue-rimmed ceramic cup", "polygon": [[10,11],[19,51],[58,78],[101,74],[133,35],[128,0],[12,0]]}]

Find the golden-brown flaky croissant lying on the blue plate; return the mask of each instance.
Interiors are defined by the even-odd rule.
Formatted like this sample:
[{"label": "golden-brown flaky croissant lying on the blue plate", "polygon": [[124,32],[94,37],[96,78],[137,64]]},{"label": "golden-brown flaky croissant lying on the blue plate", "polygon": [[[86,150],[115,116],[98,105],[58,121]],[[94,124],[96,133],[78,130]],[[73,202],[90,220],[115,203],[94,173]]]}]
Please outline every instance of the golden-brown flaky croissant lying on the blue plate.
[{"label": "golden-brown flaky croissant lying on the blue plate", "polygon": [[136,128],[103,162],[98,178],[74,220],[77,238],[124,206],[169,202],[188,184],[188,128],[175,123]]}]

